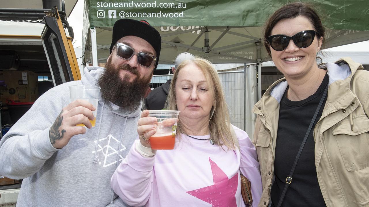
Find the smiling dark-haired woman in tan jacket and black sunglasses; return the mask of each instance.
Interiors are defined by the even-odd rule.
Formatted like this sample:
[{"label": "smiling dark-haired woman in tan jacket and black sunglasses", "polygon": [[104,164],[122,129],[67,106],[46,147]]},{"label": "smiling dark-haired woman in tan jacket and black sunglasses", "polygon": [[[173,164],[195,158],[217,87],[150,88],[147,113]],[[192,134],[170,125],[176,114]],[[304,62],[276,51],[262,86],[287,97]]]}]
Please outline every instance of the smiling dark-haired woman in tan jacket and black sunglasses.
[{"label": "smiling dark-haired woman in tan jacket and black sunglasses", "polygon": [[350,58],[318,66],[325,41],[317,12],[282,6],[264,45],[284,78],[255,104],[259,207],[368,206],[369,72]]}]

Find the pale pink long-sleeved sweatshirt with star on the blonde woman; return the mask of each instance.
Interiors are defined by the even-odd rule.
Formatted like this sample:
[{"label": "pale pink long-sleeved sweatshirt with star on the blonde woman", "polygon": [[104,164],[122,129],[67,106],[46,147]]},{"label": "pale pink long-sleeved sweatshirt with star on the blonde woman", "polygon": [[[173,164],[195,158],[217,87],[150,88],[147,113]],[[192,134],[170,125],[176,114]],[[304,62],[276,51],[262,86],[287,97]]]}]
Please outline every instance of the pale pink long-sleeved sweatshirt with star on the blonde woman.
[{"label": "pale pink long-sleeved sweatshirt with star on the blonde woman", "polygon": [[[127,204],[145,207],[244,207],[239,169],[251,180],[258,206],[262,185],[254,145],[245,131],[234,126],[240,150],[225,150],[209,140],[178,134],[174,150],[158,150],[150,158],[135,147],[111,177],[111,187]],[[207,136],[194,136],[209,138]],[[137,143],[138,142],[138,143]]]}]

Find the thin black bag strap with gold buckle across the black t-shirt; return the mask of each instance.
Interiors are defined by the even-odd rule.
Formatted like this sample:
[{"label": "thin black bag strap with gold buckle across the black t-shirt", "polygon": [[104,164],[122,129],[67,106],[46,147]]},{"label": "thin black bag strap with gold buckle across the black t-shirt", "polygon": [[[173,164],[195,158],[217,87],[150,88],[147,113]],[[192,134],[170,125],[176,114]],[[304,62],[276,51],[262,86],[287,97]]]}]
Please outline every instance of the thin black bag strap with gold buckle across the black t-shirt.
[{"label": "thin black bag strap with gold buckle across the black t-shirt", "polygon": [[286,178],[286,185],[284,186],[284,189],[283,189],[282,195],[280,196],[280,199],[279,199],[279,202],[278,202],[277,207],[280,207],[280,206],[282,205],[282,202],[283,202],[284,196],[286,195],[286,192],[287,192],[287,188],[288,188],[288,186],[289,186],[289,185],[291,184],[291,182],[292,182],[292,175],[293,175],[293,172],[295,171],[295,168],[296,168],[296,165],[297,165],[297,161],[299,161],[299,158],[300,158],[301,152],[302,152],[302,150],[303,150],[303,148],[304,148],[304,145],[305,145],[305,143],[306,143],[307,137],[308,137],[308,136],[309,136],[309,134],[310,134],[311,128],[313,127],[314,121],[315,121],[315,119],[317,118],[318,112],[319,112],[319,110],[320,110],[320,108],[321,108],[321,106],[322,106],[322,104],[323,104],[323,101],[324,101],[325,96],[327,95],[327,92],[328,92],[328,84],[327,84],[327,86],[325,87],[323,97],[320,99],[320,102],[319,102],[319,105],[318,105],[318,107],[317,107],[317,110],[315,110],[315,113],[314,113],[313,119],[311,119],[310,126],[309,126],[309,128],[307,129],[306,134],[305,134],[305,137],[304,137],[304,140],[303,140],[303,141],[302,141],[302,143],[301,143],[300,150],[299,150],[299,152],[297,152],[297,155],[296,155],[295,161],[293,162],[293,165],[292,165],[291,172],[290,172],[290,174],[288,175],[288,177]]}]

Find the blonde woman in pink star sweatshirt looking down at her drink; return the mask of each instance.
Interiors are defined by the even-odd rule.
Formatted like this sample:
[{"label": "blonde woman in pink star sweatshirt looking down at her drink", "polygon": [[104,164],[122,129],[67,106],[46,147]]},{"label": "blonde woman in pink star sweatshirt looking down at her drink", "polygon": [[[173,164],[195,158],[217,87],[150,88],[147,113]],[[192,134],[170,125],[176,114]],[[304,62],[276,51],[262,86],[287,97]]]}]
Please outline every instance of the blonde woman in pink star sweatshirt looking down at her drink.
[{"label": "blonde woman in pink star sweatshirt looking down at her drink", "polygon": [[182,62],[167,103],[169,110],[180,110],[174,149],[151,149],[157,119],[144,110],[138,120],[139,140],[111,177],[115,193],[132,206],[244,207],[241,171],[251,180],[252,206],[257,206],[261,176],[255,147],[245,131],[230,124],[212,64],[202,58]]}]

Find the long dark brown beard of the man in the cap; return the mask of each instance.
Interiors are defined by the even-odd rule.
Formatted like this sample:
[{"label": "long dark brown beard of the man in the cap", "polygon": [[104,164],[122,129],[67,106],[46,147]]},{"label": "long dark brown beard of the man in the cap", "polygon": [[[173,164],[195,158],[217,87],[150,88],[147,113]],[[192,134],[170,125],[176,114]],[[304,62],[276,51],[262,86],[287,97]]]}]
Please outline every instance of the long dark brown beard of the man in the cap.
[{"label": "long dark brown beard of the man in the cap", "polygon": [[[128,64],[114,68],[111,59],[107,61],[105,68],[98,81],[103,100],[105,102],[110,101],[123,110],[130,112],[137,110],[144,98],[147,87],[149,87],[151,77],[140,78],[137,68],[132,68]],[[129,80],[129,75],[125,75],[122,79],[120,70],[130,71],[137,77],[132,82]]]}]

